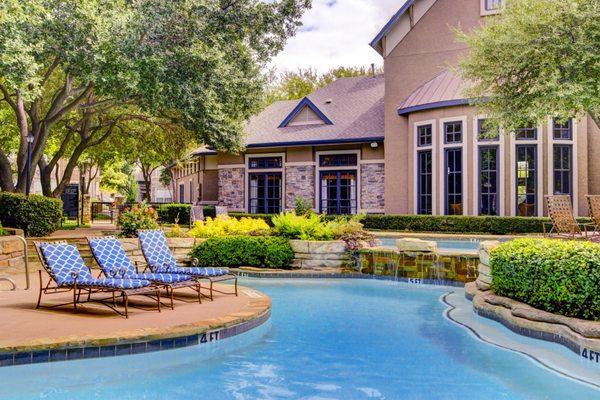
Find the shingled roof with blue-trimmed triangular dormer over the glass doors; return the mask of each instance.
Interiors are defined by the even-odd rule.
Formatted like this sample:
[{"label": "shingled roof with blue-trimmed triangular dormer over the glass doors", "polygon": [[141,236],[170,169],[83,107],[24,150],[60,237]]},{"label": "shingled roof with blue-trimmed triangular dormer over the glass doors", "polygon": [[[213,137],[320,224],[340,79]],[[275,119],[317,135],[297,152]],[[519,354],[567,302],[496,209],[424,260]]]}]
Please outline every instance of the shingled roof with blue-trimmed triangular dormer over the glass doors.
[{"label": "shingled roof with blue-trimmed triangular dormer over the glass doors", "polygon": [[[278,101],[246,123],[247,147],[381,141],[384,136],[383,75],[340,78],[300,102]],[[330,124],[284,124],[312,104]],[[314,109],[313,109],[314,111]],[[291,116],[291,118],[290,118]]]}]

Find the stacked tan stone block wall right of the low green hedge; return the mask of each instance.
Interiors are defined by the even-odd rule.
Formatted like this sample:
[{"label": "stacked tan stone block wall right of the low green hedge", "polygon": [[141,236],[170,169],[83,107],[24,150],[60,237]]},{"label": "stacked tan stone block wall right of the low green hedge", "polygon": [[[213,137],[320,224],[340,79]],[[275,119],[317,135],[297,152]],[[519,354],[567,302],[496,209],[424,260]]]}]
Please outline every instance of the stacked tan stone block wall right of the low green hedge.
[{"label": "stacked tan stone block wall right of the low green hedge", "polygon": [[294,251],[294,268],[341,272],[348,263],[346,243],[340,240],[290,240]]}]

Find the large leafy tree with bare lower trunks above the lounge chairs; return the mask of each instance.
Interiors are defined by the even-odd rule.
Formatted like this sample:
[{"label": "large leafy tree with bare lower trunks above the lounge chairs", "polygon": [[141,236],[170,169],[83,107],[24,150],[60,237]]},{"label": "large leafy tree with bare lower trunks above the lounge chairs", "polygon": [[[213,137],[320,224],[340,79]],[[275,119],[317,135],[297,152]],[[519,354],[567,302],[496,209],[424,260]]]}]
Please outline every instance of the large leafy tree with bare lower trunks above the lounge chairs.
[{"label": "large leafy tree with bare lower trunks above the lounge chairs", "polygon": [[243,121],[261,105],[261,68],[309,6],[310,0],[0,0],[0,103],[12,113],[18,142],[16,181],[9,140],[1,143],[0,188],[24,191],[28,134],[32,164],[47,177],[54,157],[44,154],[59,124],[77,158],[112,133],[131,105],[181,125],[199,142],[239,150]]}]

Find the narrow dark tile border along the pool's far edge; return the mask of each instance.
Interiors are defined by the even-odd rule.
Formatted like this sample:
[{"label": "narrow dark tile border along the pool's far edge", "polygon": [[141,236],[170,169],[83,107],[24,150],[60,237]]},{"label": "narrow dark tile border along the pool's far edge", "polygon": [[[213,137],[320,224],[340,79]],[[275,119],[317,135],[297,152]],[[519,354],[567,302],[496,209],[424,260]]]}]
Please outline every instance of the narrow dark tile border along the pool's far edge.
[{"label": "narrow dark tile border along the pool's far edge", "polygon": [[260,271],[232,271],[240,278],[271,278],[271,279],[366,279],[378,281],[404,282],[416,285],[464,287],[465,282],[446,279],[415,279],[396,278],[387,275],[366,275],[358,273],[297,273],[297,272],[260,272]]}]

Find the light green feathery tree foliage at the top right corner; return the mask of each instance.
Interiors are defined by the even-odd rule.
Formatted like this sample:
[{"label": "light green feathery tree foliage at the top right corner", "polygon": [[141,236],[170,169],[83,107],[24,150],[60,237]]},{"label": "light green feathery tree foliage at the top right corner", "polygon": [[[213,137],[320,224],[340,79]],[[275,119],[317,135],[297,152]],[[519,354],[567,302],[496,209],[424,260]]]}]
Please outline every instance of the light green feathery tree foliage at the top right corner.
[{"label": "light green feathery tree foliage at the top right corner", "polygon": [[587,112],[600,126],[600,0],[508,0],[471,33],[459,73],[506,131]]}]

